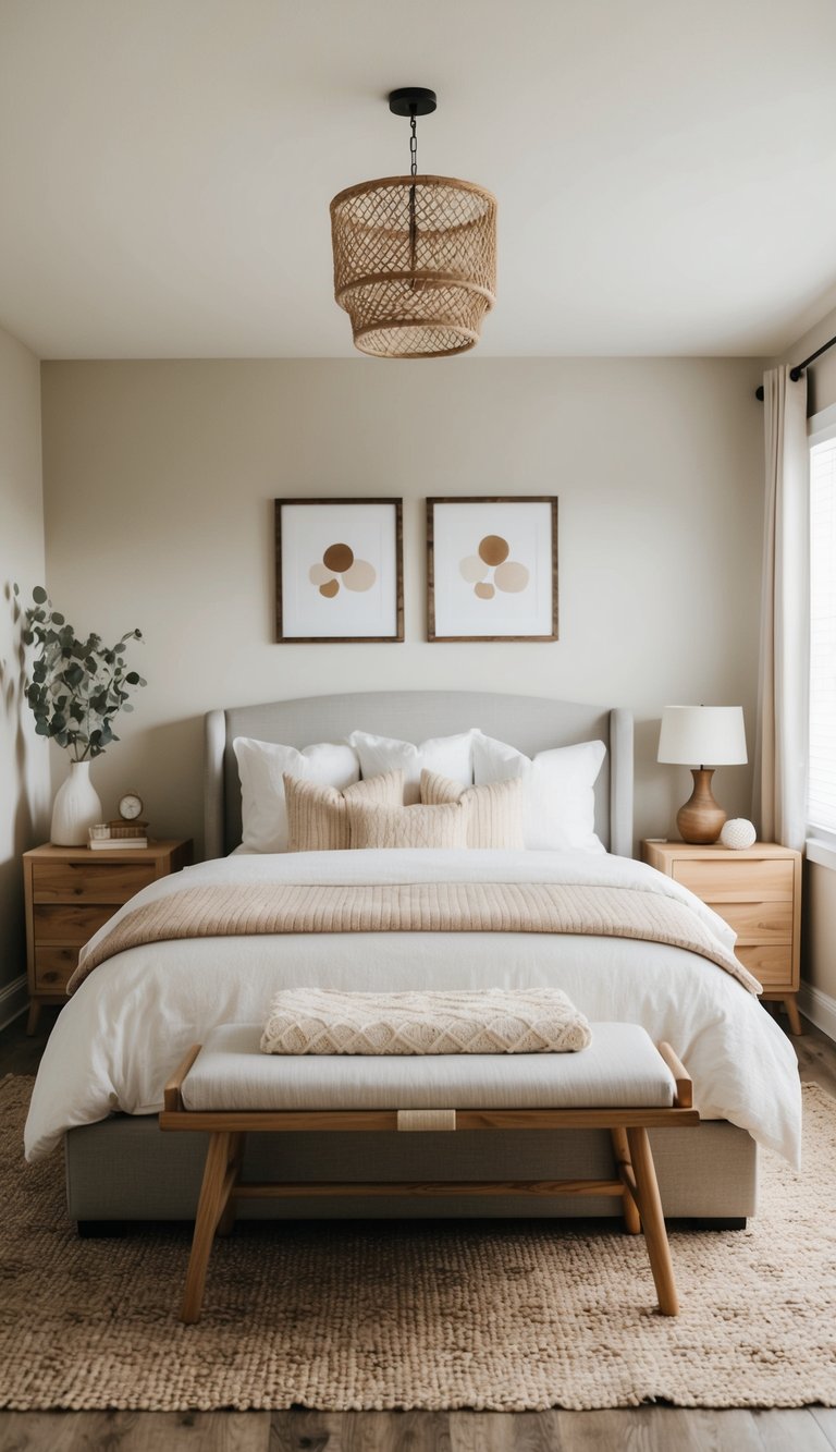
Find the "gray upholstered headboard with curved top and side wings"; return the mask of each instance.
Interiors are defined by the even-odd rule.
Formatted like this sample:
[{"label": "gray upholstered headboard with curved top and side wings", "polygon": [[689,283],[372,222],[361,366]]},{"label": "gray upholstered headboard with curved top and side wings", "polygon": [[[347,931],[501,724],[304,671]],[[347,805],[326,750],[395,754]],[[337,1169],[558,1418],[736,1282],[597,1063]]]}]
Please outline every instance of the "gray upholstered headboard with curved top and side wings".
[{"label": "gray upholstered headboard with curved top and side wings", "polygon": [[550,746],[602,741],[610,771],[595,786],[595,829],[607,848],[633,854],[633,716],[627,710],[499,696],[485,691],[357,691],[296,701],[234,706],[206,716],[203,810],[206,857],[224,857],[241,841],[241,787],[235,736],[309,746],[341,741],[353,730],[415,743],[479,726],[528,756]]}]

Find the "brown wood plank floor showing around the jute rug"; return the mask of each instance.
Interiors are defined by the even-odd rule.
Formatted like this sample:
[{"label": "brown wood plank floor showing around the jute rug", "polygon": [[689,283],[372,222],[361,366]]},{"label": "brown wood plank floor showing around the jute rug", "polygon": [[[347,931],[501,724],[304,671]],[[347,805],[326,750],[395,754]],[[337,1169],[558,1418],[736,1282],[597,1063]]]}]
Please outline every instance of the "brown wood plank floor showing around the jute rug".
[{"label": "brown wood plank floor showing around the jute rug", "polygon": [[[0,1076],[32,1074],[55,1012],[0,1032]],[[836,1098],[836,1044],[806,1024],[801,1077]],[[836,1375],[836,1374],[835,1374]],[[0,1369],[1,1378],[1,1369]],[[0,1452],[836,1452],[836,1410],[0,1411]]]}]

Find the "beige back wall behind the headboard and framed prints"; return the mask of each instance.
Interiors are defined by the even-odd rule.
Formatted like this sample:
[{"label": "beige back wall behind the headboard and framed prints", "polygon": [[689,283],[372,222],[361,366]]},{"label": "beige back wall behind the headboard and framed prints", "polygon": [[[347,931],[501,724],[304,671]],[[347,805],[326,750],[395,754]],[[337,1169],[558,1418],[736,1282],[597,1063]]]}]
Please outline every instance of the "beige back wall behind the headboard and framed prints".
[{"label": "beige back wall behind the headboard and framed prints", "polygon": [[[139,626],[148,688],[96,765],[155,832],[200,832],[210,707],[386,687],[630,706],[637,831],[672,829],[665,703],[737,703],[750,748],[761,568],[756,360],[46,363],[52,598],[78,630]],[[560,498],[560,640],[428,645],[428,494]],[[273,643],[273,498],[403,495],[403,645]],[[358,722],[358,726],[373,723]],[[65,770],[55,752],[55,781]],[[749,815],[745,768],[717,794]]]}]

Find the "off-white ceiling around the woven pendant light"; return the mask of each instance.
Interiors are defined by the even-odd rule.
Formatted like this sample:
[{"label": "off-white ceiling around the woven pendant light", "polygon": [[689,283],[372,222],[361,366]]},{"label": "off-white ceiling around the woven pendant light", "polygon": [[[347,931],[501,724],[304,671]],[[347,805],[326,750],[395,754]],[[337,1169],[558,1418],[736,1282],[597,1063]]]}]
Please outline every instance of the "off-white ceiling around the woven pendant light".
[{"label": "off-white ceiling around the woven pendant light", "polygon": [[419,170],[499,197],[479,356],[771,354],[836,303],[833,0],[0,0],[0,325],[350,356],[328,202],[408,170],[405,84]]}]

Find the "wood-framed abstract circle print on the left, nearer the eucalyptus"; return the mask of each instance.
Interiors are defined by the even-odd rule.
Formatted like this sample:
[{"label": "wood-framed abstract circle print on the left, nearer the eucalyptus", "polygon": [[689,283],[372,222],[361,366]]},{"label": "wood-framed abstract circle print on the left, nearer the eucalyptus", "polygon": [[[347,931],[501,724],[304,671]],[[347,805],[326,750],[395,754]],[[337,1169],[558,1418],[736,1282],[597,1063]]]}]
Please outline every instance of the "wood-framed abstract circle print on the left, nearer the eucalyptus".
[{"label": "wood-framed abstract circle print on the left, nearer the eucalyptus", "polygon": [[276,639],[403,639],[401,499],[276,499]]}]

